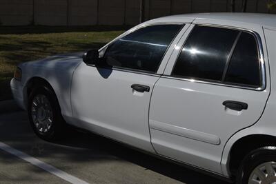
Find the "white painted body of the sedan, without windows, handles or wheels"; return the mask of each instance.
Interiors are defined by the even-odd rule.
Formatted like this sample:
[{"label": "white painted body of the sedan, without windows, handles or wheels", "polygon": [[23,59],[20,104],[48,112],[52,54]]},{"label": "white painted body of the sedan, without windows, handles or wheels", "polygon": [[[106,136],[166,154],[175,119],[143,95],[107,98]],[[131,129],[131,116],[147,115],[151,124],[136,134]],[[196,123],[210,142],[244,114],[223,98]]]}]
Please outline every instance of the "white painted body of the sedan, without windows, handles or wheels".
[{"label": "white painted body of the sedan, without windows, handles or wheels", "polygon": [[[251,134],[276,136],[275,18],[267,14],[211,13],[141,23],[117,39],[147,25],[186,23],[168,48],[157,74],[126,70],[108,73],[82,63],[79,54],[59,55],[19,65],[23,77],[21,82],[11,81],[14,99],[26,109],[26,85],[32,77],[41,77],[55,90],[68,123],[228,177],[229,153],[236,141]],[[249,30],[259,35],[265,89],[168,77],[181,45],[197,24]],[[101,48],[100,56],[108,45]],[[150,86],[150,93],[133,91],[133,83]],[[221,104],[226,100],[244,101],[249,108],[242,112],[230,110]]]}]

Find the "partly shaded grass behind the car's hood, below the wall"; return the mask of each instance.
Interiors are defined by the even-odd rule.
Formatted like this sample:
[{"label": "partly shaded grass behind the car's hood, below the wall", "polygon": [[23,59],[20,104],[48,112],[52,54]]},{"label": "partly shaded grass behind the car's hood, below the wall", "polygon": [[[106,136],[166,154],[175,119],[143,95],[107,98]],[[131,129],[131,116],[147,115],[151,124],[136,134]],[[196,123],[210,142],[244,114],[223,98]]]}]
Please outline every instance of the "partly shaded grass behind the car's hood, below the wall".
[{"label": "partly shaded grass behind the car's hood, below the wall", "polygon": [[57,53],[101,48],[127,27],[0,27],[0,101],[12,99],[16,65]]}]

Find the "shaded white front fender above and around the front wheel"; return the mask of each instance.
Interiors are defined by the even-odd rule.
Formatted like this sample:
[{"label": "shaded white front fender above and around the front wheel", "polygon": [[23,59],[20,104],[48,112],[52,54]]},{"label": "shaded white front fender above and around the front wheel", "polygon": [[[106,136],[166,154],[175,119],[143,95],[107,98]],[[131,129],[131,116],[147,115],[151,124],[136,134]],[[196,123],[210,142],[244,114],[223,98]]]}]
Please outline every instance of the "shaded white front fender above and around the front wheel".
[{"label": "shaded white front fender above and around the front wheel", "polygon": [[72,116],[71,81],[72,75],[81,63],[81,57],[49,57],[40,61],[27,62],[19,65],[22,70],[24,102],[28,99],[26,88],[34,78],[47,81],[57,95],[61,114]]}]

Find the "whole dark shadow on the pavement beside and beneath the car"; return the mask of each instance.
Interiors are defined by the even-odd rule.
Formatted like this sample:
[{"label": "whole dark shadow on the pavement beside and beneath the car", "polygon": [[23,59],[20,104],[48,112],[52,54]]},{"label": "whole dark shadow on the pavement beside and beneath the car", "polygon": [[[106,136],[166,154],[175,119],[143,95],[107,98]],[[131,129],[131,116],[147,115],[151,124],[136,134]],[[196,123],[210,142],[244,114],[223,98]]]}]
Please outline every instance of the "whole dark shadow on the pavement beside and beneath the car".
[{"label": "whole dark shadow on the pavement beside and beneath the car", "polygon": [[[95,134],[70,130],[67,138],[63,139],[63,141],[55,143],[41,141],[30,129],[25,112],[0,116],[0,141],[36,158],[44,159],[52,165],[57,164],[59,159],[68,163],[81,163],[81,165],[90,165],[91,167],[94,167],[95,163],[103,162],[106,162],[106,165],[112,165],[115,162],[122,162],[124,164],[134,163],[135,165],[143,167],[143,172],[150,170],[183,183],[226,183],[216,178],[200,174],[199,172],[188,170],[175,163],[170,163],[155,158],[154,156],[138,152],[137,150],[132,150],[125,145]],[[61,166],[61,169],[63,169],[62,167],[68,166]],[[117,169],[123,170],[120,177],[126,175],[124,176],[126,177],[126,181],[127,179],[131,180],[131,178],[128,178],[128,174],[135,174],[135,172],[131,172],[127,167],[124,168],[121,166],[117,167],[117,169],[114,168],[116,165],[114,167],[108,167],[105,166],[105,172],[109,170],[113,174],[119,172]],[[88,172],[88,169],[86,170]],[[129,173],[126,173],[128,171]],[[107,174],[106,177],[108,176]],[[145,175],[145,177],[147,176],[150,175]],[[97,183],[97,181],[94,182]]]}]

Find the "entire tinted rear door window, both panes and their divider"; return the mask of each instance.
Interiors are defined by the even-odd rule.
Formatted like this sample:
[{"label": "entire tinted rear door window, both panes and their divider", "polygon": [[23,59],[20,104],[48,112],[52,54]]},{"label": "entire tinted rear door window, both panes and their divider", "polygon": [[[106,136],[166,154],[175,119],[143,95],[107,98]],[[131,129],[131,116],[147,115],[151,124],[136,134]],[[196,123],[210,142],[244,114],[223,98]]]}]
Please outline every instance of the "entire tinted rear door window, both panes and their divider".
[{"label": "entire tinted rear door window, both panes and their divider", "polygon": [[254,34],[195,25],[172,76],[256,88],[262,76]]}]

